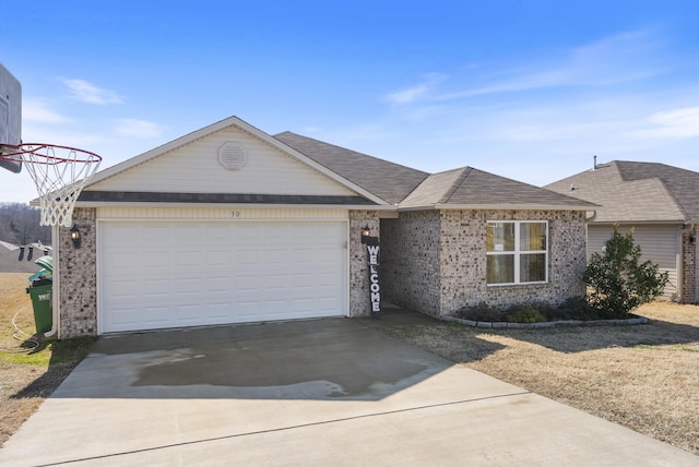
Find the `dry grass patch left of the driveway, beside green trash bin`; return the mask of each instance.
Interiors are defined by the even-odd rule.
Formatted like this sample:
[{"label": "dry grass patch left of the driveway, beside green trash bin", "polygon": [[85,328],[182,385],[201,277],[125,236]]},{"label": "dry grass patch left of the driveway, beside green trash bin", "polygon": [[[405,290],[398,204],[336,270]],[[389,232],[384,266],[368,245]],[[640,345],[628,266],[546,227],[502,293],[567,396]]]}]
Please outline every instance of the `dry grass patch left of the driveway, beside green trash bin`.
[{"label": "dry grass patch left of the driveway, beside green trash bin", "polygon": [[[84,358],[93,339],[49,340],[34,336],[28,274],[0,273],[0,446]],[[25,335],[13,338],[15,326]],[[28,337],[28,338],[27,338]],[[33,348],[35,347],[35,348]]]}]

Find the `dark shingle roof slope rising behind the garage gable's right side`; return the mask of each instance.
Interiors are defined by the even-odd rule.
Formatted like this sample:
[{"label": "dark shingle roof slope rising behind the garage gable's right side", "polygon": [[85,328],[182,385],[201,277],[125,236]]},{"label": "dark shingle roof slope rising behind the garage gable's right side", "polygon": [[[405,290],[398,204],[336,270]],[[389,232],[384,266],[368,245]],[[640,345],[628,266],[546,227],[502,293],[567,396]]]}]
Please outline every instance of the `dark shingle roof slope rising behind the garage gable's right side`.
[{"label": "dark shingle roof slope rising behind the garage gable's right side", "polygon": [[428,176],[420,170],[288,131],[274,137],[390,204],[399,203]]}]

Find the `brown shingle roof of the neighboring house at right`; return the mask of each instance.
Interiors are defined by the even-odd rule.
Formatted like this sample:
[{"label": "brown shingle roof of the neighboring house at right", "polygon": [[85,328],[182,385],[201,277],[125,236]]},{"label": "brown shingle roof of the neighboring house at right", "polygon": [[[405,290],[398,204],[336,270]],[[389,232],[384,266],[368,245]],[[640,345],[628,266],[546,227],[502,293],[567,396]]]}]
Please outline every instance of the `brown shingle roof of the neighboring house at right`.
[{"label": "brown shingle roof of the neighboring house at right", "polygon": [[699,172],[665,164],[613,160],[545,188],[602,205],[595,221],[699,219]]}]

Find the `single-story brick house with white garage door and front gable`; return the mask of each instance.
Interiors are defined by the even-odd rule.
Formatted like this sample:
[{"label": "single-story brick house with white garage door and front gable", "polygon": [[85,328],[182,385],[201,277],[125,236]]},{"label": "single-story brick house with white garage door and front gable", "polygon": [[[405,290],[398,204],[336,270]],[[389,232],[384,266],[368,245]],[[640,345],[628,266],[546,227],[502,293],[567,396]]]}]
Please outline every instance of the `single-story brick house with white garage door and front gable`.
[{"label": "single-story brick house with white garage door and front gable", "polygon": [[[54,228],[60,337],[369,313],[436,316],[584,292],[571,196],[473,168],[429,175],[232,117],[98,172]],[[56,258],[59,260],[56,261]],[[56,271],[58,268],[58,271]]]}]

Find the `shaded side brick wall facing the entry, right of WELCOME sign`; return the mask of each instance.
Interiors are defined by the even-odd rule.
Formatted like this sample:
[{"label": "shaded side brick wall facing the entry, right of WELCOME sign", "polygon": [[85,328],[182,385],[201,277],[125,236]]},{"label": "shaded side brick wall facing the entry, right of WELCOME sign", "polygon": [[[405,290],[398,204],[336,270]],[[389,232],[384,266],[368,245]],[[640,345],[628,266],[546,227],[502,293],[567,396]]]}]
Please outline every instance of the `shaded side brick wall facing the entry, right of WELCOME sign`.
[{"label": "shaded side brick wall facing the entry, right of WELCOME sign", "polygon": [[381,219],[383,299],[411,310],[439,314],[439,212],[414,211]]}]

